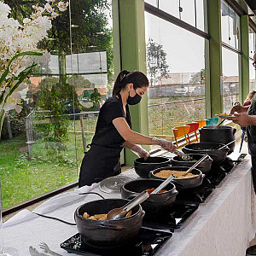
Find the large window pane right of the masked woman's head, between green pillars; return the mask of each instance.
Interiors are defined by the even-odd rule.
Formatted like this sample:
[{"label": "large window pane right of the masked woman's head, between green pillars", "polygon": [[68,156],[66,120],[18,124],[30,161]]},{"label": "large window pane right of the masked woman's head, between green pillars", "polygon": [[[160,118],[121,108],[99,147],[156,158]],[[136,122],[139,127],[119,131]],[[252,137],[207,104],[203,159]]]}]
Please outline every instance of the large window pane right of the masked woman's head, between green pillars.
[{"label": "large window pane right of the masked woman's head, between green pillars", "polygon": [[147,12],[145,23],[149,134],[170,136],[173,127],[206,118],[206,39]]}]

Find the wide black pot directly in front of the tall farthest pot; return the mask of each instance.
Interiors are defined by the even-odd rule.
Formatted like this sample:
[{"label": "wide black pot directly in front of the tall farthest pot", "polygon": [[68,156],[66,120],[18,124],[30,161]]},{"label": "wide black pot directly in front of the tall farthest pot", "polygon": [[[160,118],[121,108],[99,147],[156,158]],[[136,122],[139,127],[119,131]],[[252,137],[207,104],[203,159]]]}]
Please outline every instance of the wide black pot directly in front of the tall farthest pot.
[{"label": "wide black pot directly in front of the tall farthest pot", "polygon": [[185,154],[209,154],[214,164],[219,164],[225,160],[230,151],[229,147],[224,147],[220,143],[192,143],[185,145],[182,150]]}]

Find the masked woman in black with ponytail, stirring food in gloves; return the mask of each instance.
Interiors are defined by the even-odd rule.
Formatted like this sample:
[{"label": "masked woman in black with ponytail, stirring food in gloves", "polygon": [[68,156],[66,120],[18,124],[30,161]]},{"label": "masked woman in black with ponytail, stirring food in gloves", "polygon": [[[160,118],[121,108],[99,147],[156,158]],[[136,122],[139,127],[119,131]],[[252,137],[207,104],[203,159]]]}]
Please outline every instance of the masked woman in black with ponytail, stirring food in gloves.
[{"label": "masked woman in black with ponytail, stirring food in gloves", "polygon": [[170,141],[131,131],[128,105],[139,103],[147,89],[148,79],[143,73],[126,70],[119,73],[113,86],[113,97],[108,98],[100,109],[90,150],[84,155],[81,165],[79,188],[118,175],[123,147],[144,158],[148,157],[148,152],[140,144],[160,145],[168,151],[176,149]]}]

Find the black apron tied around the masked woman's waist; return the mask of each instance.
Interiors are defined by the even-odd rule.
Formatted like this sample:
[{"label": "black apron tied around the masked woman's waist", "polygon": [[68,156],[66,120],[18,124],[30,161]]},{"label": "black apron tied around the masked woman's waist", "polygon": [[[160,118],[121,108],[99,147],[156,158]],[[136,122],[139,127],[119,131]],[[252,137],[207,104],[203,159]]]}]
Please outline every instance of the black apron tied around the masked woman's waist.
[{"label": "black apron tied around the masked woman's waist", "polygon": [[[121,102],[121,96],[119,101]],[[122,103],[122,102],[121,102]],[[129,108],[126,105],[126,121],[131,126]],[[123,140],[119,144],[106,146],[106,139],[109,137],[120,137],[119,132],[114,128],[111,131],[101,132],[93,138],[90,150],[84,155],[79,174],[79,188],[84,185],[98,183],[106,177],[118,175],[121,172],[120,152],[124,148]],[[102,144],[104,146],[102,146]]]}]

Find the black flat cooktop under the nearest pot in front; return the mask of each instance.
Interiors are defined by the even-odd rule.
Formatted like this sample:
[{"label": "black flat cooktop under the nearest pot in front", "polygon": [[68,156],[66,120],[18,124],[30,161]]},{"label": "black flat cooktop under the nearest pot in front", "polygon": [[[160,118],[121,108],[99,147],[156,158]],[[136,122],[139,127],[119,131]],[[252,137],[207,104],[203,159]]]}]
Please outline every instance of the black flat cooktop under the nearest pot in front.
[{"label": "black flat cooktop under the nearest pot in front", "polygon": [[76,234],[61,243],[61,248],[68,253],[78,253],[81,255],[102,255],[102,256],[143,256],[154,255],[163,244],[172,237],[172,233],[148,230],[141,228],[139,235],[133,243],[122,247],[102,248],[87,244],[80,234]]}]

